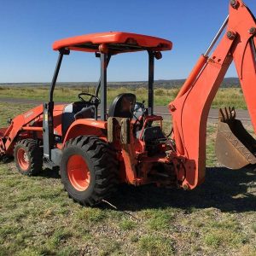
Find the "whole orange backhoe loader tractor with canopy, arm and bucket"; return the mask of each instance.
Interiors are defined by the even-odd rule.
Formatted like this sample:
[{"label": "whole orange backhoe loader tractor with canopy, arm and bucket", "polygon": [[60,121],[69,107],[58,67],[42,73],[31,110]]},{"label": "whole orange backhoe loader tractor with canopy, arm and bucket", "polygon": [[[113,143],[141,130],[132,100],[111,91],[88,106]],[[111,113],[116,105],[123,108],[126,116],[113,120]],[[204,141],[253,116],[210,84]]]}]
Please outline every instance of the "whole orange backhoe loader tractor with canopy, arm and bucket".
[{"label": "whole orange backhoe loader tractor with canopy, arm and bucket", "polygon": [[[232,61],[256,131],[255,35],[251,11],[241,0],[231,0],[230,15],[168,106],[171,138],[162,131],[162,117],[154,115],[154,59],[172,49],[172,42],[127,32],[56,41],[53,49],[59,51],[59,59],[49,102],[11,119],[9,127],[0,130],[0,154],[14,155],[18,170],[26,175],[43,166],[59,166],[68,195],[83,205],[102,201],[119,183],[194,189],[205,178],[207,115]],[[62,57],[72,50],[95,53],[101,78],[95,95],[80,93],[78,102],[57,105],[53,94]],[[143,50],[148,53],[147,108],[134,94],[123,93],[107,111],[108,62],[114,55]],[[236,120],[235,109],[220,113],[219,161],[235,169],[255,164],[255,140]]]}]

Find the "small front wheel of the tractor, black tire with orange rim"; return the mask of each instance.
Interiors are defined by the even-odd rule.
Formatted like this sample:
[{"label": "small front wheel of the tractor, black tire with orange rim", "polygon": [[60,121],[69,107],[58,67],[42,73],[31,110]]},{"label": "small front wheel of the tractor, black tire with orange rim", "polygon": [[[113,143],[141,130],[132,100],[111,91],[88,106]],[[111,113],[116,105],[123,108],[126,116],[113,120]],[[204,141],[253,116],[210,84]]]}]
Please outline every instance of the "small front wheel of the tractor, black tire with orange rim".
[{"label": "small front wheel of the tractor, black tire with orange rim", "polygon": [[20,140],[15,144],[14,156],[15,164],[21,174],[34,176],[42,171],[43,152],[36,140]]}]

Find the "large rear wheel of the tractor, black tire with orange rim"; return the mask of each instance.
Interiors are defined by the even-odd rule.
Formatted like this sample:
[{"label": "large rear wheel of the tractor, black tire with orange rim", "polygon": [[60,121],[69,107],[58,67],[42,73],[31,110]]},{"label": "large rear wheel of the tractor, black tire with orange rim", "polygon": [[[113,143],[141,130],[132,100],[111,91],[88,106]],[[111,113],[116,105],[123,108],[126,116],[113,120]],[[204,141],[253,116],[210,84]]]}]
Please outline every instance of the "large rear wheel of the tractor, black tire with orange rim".
[{"label": "large rear wheel of the tractor, black tire with orange rim", "polygon": [[61,182],[74,201],[94,206],[116,190],[117,164],[113,149],[98,137],[76,137],[63,148]]}]

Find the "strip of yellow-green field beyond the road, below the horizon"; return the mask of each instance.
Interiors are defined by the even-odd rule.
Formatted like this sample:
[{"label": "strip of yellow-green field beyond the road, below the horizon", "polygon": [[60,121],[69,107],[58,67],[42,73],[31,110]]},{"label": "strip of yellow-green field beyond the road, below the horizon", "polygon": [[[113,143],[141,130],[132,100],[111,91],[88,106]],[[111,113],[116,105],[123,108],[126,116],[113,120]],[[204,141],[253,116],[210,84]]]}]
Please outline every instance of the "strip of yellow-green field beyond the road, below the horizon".
[{"label": "strip of yellow-green field beyond the road, below the horizon", "polygon": [[[78,94],[80,92],[89,92],[94,94],[93,86],[76,86],[76,87],[67,87],[67,86],[56,86],[54,99],[55,102],[73,102],[78,101]],[[165,88],[156,88],[154,90],[154,104],[156,106],[166,106],[169,102],[174,100],[179,88],[165,89]],[[144,87],[135,88],[135,87],[109,87],[108,88],[108,103],[113,101],[113,98],[119,93],[131,92],[136,94],[137,101],[147,102],[148,90]],[[49,87],[15,87],[15,86],[0,86],[0,97],[1,98],[22,98],[22,99],[34,99],[42,100],[46,102],[49,96]],[[244,102],[242,91],[239,88],[220,88],[217,95],[215,96],[214,101],[212,102],[212,108],[223,108],[223,107],[236,107],[237,109],[246,109],[246,103]]]}]

